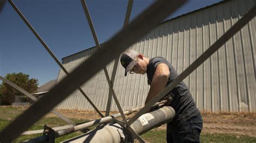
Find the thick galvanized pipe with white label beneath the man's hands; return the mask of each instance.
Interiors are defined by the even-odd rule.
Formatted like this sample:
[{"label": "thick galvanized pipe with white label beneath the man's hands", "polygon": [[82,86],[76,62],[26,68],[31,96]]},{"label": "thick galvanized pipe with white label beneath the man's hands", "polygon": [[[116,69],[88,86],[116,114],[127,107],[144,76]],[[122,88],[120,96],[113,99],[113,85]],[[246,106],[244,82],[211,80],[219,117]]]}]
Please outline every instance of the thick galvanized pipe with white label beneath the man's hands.
[{"label": "thick galvanized pipe with white label beneath the man's hands", "polygon": [[[175,116],[175,111],[171,106],[164,106],[159,110],[146,113],[140,116],[131,125],[133,131],[137,134],[143,134],[154,127],[169,123]],[[131,140],[129,131],[119,124],[107,124],[97,127],[95,130],[79,135],[78,137],[68,139],[64,142],[124,142]]]}]

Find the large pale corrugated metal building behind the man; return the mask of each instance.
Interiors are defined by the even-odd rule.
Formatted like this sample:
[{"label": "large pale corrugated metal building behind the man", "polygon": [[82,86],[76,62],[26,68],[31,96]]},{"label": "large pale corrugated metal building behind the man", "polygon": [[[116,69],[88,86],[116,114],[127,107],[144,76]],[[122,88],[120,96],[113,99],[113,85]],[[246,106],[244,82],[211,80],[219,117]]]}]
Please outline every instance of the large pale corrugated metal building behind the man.
[{"label": "large pale corrugated metal building behind the man", "polygon": [[[167,20],[130,48],[149,58],[163,56],[181,73],[255,3],[255,0],[225,1]],[[255,24],[256,18],[253,18],[185,79],[201,111],[256,111]],[[63,58],[64,67],[72,71],[95,50],[92,47]],[[113,62],[107,65],[110,77],[112,69]],[[60,70],[57,81],[64,76]],[[136,74],[124,77],[124,68],[118,63],[113,87],[123,110],[144,106],[150,88],[146,78]],[[82,89],[99,110],[106,110],[109,86],[103,70]],[[78,90],[56,108],[93,109]],[[114,110],[117,106],[112,101],[111,111]]]}]

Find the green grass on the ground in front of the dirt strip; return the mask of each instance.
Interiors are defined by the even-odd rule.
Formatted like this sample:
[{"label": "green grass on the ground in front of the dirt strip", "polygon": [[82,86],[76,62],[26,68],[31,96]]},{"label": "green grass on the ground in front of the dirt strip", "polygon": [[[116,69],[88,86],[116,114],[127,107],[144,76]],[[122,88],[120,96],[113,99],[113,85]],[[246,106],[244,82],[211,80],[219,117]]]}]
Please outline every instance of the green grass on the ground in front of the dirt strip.
[{"label": "green grass on the ground in front of the dirt strip", "polygon": [[[12,107],[5,106],[0,108],[0,131],[8,125],[11,120],[15,119],[15,117],[21,114],[24,111],[24,108],[21,107]],[[86,121],[83,119],[72,119],[76,123],[81,121]],[[41,120],[37,121],[36,124],[31,126],[29,130],[41,130],[44,125],[49,125],[50,127],[62,126],[66,125],[65,121],[57,118],[57,117],[43,117]],[[142,135],[142,138],[149,142],[166,142],[165,141],[165,130],[151,130]],[[64,137],[60,137],[56,139],[56,142],[64,141],[66,139],[70,139],[72,137],[76,137],[81,133],[76,132],[69,135],[65,135]],[[24,140],[32,139],[41,136],[42,134],[33,134],[33,135],[21,135],[14,142],[22,142]],[[256,138],[249,137],[245,135],[232,135],[232,134],[209,134],[209,133],[201,133],[201,142],[256,142]]]}]

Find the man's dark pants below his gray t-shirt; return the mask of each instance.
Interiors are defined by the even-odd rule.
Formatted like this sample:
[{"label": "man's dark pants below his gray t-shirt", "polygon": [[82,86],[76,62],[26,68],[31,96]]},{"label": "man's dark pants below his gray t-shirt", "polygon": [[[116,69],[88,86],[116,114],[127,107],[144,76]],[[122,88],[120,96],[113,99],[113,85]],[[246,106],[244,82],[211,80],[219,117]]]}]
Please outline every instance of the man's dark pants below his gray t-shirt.
[{"label": "man's dark pants below his gray t-shirt", "polygon": [[193,117],[184,123],[173,125],[167,124],[167,142],[200,142],[200,132],[203,129],[201,115]]}]

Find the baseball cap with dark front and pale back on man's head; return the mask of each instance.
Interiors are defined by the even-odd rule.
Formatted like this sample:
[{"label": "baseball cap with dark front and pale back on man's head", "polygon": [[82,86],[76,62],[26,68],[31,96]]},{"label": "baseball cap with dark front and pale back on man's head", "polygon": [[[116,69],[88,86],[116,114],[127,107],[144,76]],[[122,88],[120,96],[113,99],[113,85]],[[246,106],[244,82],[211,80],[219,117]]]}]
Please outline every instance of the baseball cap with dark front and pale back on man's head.
[{"label": "baseball cap with dark front and pale back on man's head", "polygon": [[130,71],[136,64],[134,59],[139,55],[139,52],[134,51],[133,49],[127,49],[124,53],[122,53],[120,62],[121,65],[125,68],[124,75],[127,75],[127,72]]}]

